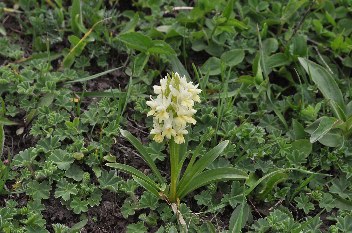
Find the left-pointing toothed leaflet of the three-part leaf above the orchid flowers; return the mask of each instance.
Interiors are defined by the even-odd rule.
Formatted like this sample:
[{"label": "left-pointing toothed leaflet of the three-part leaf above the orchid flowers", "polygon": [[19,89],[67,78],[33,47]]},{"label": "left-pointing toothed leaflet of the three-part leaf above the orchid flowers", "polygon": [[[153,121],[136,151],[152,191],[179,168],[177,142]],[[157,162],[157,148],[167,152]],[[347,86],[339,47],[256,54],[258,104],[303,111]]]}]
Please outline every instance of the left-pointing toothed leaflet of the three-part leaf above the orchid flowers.
[{"label": "left-pointing toothed leaflet of the three-part leaf above the orchid flowers", "polygon": [[128,32],[117,36],[117,39],[124,42],[131,48],[147,53],[152,45],[152,39],[140,32]]}]

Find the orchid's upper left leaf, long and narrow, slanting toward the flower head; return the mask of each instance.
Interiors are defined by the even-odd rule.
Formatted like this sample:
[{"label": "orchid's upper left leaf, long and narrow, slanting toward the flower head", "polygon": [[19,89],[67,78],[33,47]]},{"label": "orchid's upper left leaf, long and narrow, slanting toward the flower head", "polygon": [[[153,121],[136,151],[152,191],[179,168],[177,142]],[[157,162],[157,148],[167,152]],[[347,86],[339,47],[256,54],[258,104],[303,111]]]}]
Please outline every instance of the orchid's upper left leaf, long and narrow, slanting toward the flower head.
[{"label": "orchid's upper left leaf, long and narrow, slanting toward the flower head", "polygon": [[145,147],[138,141],[136,137],[134,137],[130,132],[120,129],[120,133],[122,136],[124,136],[128,141],[131,142],[131,144],[134,146],[134,148],[137,149],[137,151],[140,153],[140,155],[143,157],[143,159],[147,162],[149,165],[150,169],[153,171],[155,176],[158,178],[159,182],[163,184],[164,178],[161,176],[158,168],[156,167],[153,159],[150,157],[149,153],[145,149]]}]

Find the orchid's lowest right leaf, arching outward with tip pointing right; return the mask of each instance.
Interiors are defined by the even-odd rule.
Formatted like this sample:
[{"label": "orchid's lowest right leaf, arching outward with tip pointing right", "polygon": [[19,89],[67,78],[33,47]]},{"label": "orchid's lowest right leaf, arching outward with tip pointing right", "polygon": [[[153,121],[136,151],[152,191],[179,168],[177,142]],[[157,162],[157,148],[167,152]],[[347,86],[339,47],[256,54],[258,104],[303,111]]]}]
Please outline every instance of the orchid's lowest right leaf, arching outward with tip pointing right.
[{"label": "orchid's lowest right leaf, arching outward with tip pointing right", "polygon": [[196,177],[192,178],[184,188],[177,190],[176,196],[180,199],[185,197],[188,193],[193,190],[208,185],[210,183],[215,183],[219,181],[227,180],[244,180],[248,179],[249,176],[244,171],[241,171],[233,167],[218,167],[207,170],[200,173]]}]

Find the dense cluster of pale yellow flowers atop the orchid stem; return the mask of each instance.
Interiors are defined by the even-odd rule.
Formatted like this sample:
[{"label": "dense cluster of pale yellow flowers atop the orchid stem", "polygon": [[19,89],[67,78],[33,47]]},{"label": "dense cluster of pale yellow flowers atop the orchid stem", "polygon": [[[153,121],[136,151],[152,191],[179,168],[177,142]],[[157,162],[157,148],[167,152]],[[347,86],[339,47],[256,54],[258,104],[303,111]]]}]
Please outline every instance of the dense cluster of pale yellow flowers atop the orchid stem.
[{"label": "dense cluster of pale yellow flowers atop the orchid stem", "polygon": [[187,123],[195,125],[197,122],[193,119],[193,114],[197,110],[193,109],[194,102],[200,102],[198,89],[199,84],[193,85],[193,82],[187,82],[186,76],[180,78],[176,72],[169,74],[160,80],[160,86],[153,86],[157,98],[153,99],[150,95],[150,101],[146,104],[151,107],[148,116],[153,115],[153,129],[151,134],[155,134],[153,140],[162,142],[164,137],[174,140],[177,144],[184,142],[184,134],[188,131]]}]

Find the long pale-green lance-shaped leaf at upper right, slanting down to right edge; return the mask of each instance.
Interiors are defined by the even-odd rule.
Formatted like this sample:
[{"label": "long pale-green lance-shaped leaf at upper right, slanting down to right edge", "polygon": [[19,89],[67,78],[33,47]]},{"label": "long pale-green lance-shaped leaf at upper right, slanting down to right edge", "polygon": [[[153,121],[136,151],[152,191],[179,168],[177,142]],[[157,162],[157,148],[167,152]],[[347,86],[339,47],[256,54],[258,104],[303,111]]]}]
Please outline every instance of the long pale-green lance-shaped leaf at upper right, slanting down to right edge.
[{"label": "long pale-green lance-shaped leaf at upper right, slanting down to right edge", "polygon": [[[298,58],[298,60],[306,72],[308,74],[310,73],[313,82],[318,84],[318,88],[324,97],[337,102],[341,109],[344,110],[345,103],[344,98],[342,97],[342,92],[331,74],[325,68],[313,61],[305,58]],[[337,115],[337,113],[335,114]]]}]

